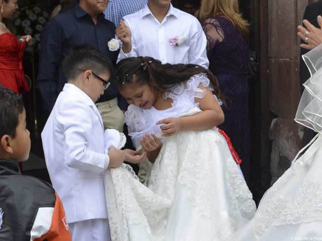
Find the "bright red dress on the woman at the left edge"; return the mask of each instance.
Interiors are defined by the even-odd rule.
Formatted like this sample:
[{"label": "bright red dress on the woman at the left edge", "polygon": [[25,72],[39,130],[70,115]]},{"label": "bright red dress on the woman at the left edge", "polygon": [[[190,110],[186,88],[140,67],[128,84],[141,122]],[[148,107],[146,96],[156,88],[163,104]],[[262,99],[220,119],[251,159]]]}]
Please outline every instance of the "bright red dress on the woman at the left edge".
[{"label": "bright red dress on the woman at the left edge", "polygon": [[22,66],[26,41],[19,43],[11,33],[0,35],[0,84],[16,93],[29,91]]}]

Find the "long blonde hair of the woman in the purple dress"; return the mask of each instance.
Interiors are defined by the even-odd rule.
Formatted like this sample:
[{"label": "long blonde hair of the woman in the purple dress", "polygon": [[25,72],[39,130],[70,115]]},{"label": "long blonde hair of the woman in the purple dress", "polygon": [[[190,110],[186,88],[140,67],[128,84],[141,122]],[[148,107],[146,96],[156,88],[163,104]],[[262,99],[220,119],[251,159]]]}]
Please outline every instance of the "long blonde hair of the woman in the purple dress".
[{"label": "long blonde hair of the woman in the purple dress", "polygon": [[203,0],[200,8],[200,20],[204,22],[209,17],[221,15],[244,36],[249,38],[249,23],[239,13],[238,0]]}]

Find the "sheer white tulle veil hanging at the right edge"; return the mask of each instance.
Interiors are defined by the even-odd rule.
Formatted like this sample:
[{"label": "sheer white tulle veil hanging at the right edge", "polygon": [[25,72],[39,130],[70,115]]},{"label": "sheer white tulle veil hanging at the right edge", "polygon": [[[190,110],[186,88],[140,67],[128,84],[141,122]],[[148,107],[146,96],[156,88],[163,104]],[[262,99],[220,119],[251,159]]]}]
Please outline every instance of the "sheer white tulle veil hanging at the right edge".
[{"label": "sheer white tulle veil hanging at the right edge", "polygon": [[295,122],[322,134],[322,44],[302,56],[311,77],[298,105]]}]

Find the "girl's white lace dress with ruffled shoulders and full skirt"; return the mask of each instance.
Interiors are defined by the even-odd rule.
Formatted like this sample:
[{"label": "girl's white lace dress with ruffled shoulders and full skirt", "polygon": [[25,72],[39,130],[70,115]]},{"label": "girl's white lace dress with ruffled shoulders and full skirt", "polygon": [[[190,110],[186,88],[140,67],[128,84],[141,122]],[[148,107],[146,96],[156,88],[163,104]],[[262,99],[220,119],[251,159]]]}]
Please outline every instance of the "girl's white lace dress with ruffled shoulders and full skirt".
[{"label": "girl's white lace dress with ruffled shoulders and full skirt", "polygon": [[[160,134],[159,119],[200,112],[198,85],[191,77],[165,93],[172,107],[156,110],[130,105],[125,122],[133,144],[145,133]],[[210,241],[227,237],[254,216],[256,205],[228,145],[216,127],[182,131],[162,139],[146,186],[131,168],[108,169],[106,200],[112,240]]]}]

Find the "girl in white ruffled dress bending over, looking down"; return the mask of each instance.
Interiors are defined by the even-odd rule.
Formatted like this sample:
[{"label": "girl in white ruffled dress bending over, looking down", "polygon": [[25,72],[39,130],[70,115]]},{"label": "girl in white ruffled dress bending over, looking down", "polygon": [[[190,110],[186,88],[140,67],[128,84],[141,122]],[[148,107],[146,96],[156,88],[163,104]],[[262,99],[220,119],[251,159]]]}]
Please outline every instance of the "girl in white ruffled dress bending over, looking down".
[{"label": "girl in white ruffled dress bending over, looking down", "polygon": [[133,144],[154,164],[147,187],[125,165],[107,173],[112,240],[218,240],[254,216],[252,194],[216,128],[223,113],[208,70],[135,57],[119,62],[114,81],[130,104]]}]

